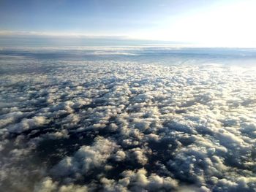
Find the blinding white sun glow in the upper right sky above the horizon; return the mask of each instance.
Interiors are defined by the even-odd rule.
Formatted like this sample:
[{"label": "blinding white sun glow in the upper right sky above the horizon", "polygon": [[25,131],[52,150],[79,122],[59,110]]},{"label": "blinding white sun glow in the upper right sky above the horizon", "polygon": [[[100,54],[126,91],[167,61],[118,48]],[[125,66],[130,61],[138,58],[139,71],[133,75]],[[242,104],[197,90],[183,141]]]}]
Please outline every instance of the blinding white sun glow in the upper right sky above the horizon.
[{"label": "blinding white sun glow in the upper right sky above the horizon", "polygon": [[256,1],[217,5],[166,18],[156,28],[132,34],[138,39],[192,42],[206,46],[256,47]]}]

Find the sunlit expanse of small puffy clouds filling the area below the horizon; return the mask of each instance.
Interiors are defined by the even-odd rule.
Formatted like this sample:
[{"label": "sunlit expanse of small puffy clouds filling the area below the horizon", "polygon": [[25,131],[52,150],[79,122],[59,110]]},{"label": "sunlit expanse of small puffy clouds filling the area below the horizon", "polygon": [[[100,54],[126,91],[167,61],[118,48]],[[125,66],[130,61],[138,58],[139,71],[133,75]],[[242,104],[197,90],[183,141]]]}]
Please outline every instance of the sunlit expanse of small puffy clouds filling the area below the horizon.
[{"label": "sunlit expanse of small puffy clouds filling the area below the horizon", "polygon": [[1,66],[5,191],[256,191],[255,69]]}]

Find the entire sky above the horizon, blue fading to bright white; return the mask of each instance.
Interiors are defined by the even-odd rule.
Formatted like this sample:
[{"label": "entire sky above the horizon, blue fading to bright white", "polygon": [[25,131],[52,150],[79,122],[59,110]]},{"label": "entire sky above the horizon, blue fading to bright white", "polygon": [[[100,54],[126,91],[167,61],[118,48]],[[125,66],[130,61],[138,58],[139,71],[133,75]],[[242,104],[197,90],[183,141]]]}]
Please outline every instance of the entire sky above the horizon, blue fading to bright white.
[{"label": "entire sky above the horizon, blue fading to bright white", "polygon": [[64,37],[256,47],[255,7],[253,0],[0,0],[0,44]]}]

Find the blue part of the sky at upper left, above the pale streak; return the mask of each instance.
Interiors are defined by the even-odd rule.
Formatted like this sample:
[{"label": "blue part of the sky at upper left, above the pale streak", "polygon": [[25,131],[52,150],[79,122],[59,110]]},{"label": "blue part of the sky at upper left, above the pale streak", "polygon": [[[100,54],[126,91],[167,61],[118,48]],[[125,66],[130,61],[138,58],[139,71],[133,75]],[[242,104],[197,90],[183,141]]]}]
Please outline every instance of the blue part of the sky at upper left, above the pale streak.
[{"label": "blue part of the sky at upper left, above the pale streak", "polygon": [[6,30],[117,34],[157,26],[162,18],[203,4],[206,3],[191,0],[1,0],[0,18],[1,28]]}]

